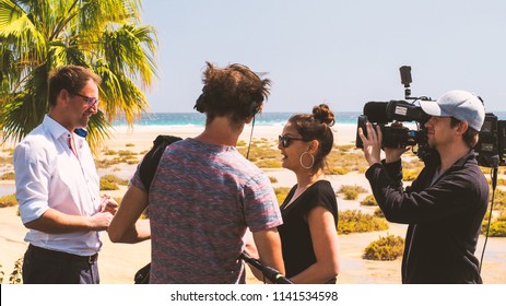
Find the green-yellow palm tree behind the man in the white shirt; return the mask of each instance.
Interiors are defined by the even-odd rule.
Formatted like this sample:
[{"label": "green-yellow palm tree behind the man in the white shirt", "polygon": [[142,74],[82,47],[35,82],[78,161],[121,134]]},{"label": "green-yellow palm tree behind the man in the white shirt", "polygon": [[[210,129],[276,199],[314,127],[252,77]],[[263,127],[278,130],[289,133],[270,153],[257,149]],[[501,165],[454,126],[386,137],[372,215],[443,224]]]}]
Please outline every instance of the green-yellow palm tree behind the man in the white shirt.
[{"label": "green-yellow palm tree behind the man in the white shirt", "polygon": [[142,92],[156,75],[156,32],[140,25],[141,0],[0,0],[0,133],[21,140],[49,108],[47,76],[62,64],[102,76],[96,149],[119,115],[132,125],[148,108]]}]

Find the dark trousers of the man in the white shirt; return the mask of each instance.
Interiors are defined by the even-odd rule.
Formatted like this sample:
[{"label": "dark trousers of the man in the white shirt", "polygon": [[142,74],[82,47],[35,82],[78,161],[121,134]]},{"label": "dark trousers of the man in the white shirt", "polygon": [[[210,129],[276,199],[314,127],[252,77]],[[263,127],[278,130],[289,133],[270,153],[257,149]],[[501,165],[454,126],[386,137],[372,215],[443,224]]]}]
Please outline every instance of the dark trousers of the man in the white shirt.
[{"label": "dark trousers of the man in the white shirt", "polygon": [[25,284],[98,284],[97,256],[77,256],[30,245],[23,261]]}]

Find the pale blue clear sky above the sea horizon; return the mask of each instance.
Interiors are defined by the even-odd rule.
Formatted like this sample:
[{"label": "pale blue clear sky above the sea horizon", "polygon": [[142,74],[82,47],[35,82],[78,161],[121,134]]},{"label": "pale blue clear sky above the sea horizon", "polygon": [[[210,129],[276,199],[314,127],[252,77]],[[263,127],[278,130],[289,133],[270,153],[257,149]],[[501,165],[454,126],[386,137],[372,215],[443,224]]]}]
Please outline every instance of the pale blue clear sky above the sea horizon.
[{"label": "pale blue clear sky above the sea horizon", "polygon": [[401,66],[412,96],[460,89],[506,110],[505,12],[502,0],[144,0],[160,43],[149,111],[195,111],[205,61],[267,72],[263,111],[402,99]]}]

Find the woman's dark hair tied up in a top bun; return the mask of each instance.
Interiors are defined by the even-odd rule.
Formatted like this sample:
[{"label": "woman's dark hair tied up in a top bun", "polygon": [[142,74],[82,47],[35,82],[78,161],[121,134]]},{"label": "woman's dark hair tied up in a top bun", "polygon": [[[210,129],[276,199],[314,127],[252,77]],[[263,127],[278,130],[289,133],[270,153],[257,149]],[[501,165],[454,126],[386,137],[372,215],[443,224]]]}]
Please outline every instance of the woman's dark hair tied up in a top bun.
[{"label": "woman's dark hair tied up in a top bun", "polygon": [[315,154],[313,170],[326,166],[326,157],[333,145],[333,133],[330,127],[333,126],[334,116],[327,104],[313,107],[313,114],[294,115],[289,122],[295,126],[304,141],[318,140],[318,152]]}]

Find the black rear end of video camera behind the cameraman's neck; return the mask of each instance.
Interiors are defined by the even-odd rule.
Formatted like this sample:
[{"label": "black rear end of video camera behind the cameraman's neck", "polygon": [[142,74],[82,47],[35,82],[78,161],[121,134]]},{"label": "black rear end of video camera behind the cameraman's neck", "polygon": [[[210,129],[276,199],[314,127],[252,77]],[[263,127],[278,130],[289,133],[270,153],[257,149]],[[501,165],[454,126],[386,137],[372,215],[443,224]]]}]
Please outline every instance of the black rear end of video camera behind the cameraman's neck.
[{"label": "black rear end of video camera behind the cameraman's neck", "polygon": [[480,138],[474,146],[478,164],[483,167],[506,166],[506,121],[492,113],[485,114]]}]

